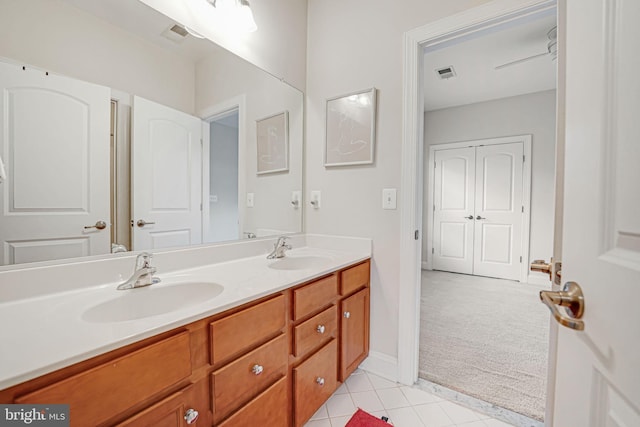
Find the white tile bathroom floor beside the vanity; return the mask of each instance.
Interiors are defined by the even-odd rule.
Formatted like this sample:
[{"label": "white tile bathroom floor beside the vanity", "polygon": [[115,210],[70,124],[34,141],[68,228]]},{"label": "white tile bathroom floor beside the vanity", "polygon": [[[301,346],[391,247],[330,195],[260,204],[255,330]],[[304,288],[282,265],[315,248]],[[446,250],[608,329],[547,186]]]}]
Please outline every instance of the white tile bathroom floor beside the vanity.
[{"label": "white tile bathroom floor beside the vanity", "polygon": [[357,408],[376,417],[389,417],[395,427],[511,426],[429,392],[358,369],[305,427],[344,427]]}]

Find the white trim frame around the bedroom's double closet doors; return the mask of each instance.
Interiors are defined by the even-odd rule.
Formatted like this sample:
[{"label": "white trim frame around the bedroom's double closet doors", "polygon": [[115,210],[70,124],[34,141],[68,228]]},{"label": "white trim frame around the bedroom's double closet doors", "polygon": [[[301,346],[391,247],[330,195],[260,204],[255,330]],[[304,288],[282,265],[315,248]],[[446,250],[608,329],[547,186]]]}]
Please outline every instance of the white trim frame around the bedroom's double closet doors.
[{"label": "white trim frame around the bedroom's double closet doors", "polygon": [[[427,188],[427,206],[429,209],[425,212],[427,223],[427,248],[433,248],[433,209],[434,191],[435,191],[435,168],[433,159],[436,151],[451,150],[455,148],[478,147],[480,145],[500,145],[510,144],[514,142],[522,142],[524,152],[524,163],[522,167],[522,204],[524,206],[524,215],[522,216],[522,240],[520,253],[522,254],[522,262],[520,263],[520,281],[526,282],[529,277],[529,240],[531,228],[531,140],[530,134],[504,136],[487,139],[474,139],[470,141],[448,142],[444,144],[433,144],[429,146],[429,157],[427,158],[428,181]],[[423,265],[427,270],[433,270],[433,256],[427,254],[426,262]]]}]

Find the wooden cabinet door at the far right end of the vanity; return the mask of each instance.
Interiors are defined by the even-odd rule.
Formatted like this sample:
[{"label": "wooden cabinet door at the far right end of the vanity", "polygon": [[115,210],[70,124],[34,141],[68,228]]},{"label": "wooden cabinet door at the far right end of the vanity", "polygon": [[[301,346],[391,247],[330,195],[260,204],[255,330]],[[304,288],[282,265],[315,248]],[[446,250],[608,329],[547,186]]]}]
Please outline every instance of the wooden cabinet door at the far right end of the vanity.
[{"label": "wooden cabinet door at the far right end of the vanity", "polygon": [[340,381],[344,381],[369,354],[369,288],[340,303]]}]

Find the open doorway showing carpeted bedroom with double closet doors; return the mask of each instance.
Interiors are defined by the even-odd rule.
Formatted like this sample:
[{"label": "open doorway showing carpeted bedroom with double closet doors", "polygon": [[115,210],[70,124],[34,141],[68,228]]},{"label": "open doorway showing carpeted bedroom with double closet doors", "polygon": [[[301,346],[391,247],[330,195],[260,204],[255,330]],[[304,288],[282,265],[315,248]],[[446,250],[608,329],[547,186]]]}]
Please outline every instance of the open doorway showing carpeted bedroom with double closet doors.
[{"label": "open doorway showing carpeted bedroom with double closet doors", "polygon": [[549,318],[537,293],[551,283],[528,265],[553,252],[555,27],[549,8],[427,47],[418,95],[418,376],[527,425],[544,419],[547,388]]}]

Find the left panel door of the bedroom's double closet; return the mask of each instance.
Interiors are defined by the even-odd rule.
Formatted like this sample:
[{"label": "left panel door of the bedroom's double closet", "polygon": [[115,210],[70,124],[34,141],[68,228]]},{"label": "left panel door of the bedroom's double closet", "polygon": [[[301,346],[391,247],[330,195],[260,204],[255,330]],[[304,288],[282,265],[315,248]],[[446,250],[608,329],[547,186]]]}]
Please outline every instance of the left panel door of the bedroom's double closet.
[{"label": "left panel door of the bedroom's double closet", "polygon": [[475,148],[434,155],[433,268],[473,273]]}]

